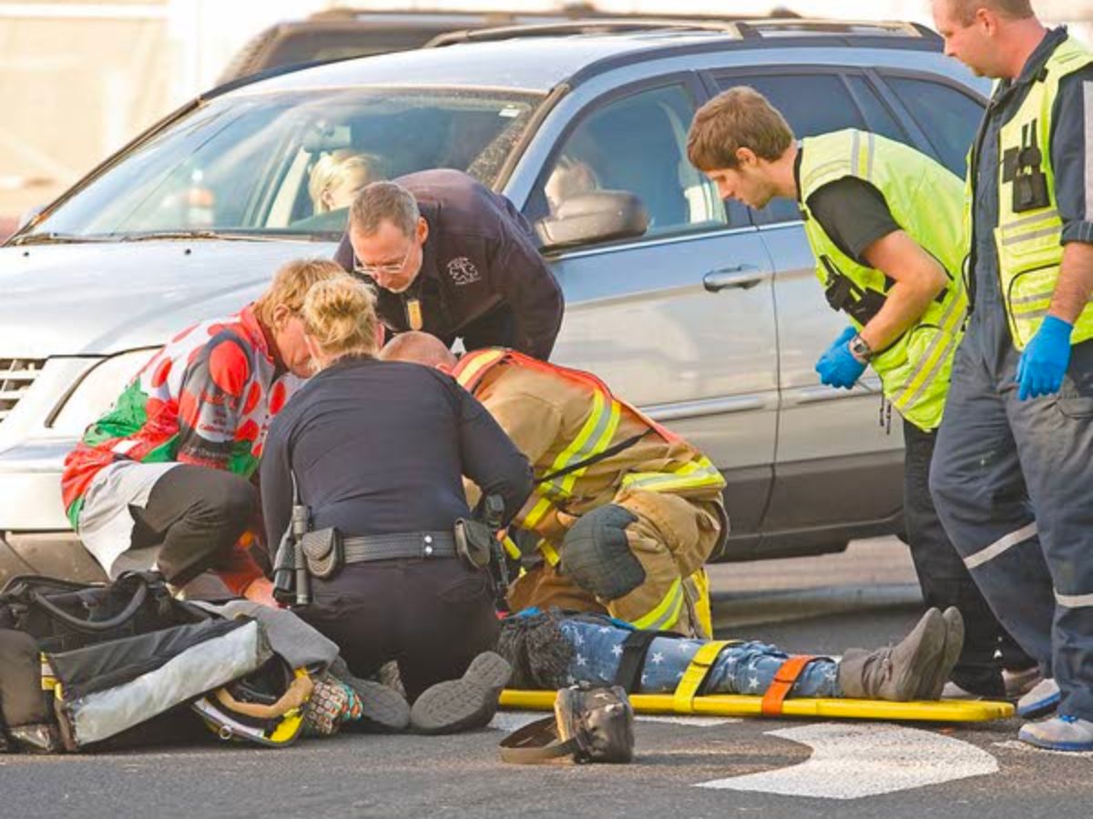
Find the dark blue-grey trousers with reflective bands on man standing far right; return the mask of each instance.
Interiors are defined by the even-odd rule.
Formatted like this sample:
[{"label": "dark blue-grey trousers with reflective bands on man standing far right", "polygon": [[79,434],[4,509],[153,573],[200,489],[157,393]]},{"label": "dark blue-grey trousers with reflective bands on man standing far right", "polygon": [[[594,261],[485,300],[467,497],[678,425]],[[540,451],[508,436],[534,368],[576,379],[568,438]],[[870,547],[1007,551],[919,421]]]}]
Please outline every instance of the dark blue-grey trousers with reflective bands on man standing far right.
[{"label": "dark blue-grey trousers with reflective bands on man standing far right", "polygon": [[1062,390],[1018,400],[1004,313],[984,305],[953,363],[930,488],[998,619],[1093,720],[1093,342]]}]

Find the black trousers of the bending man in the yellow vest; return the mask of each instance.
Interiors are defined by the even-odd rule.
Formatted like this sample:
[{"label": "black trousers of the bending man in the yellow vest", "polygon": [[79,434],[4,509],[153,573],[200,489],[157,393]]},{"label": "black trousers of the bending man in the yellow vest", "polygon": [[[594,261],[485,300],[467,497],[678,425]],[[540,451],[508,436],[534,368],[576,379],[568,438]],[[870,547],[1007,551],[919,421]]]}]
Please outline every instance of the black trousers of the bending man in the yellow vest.
[{"label": "black trousers of the bending man in the yellow vest", "polygon": [[[964,617],[964,649],[950,676],[967,691],[1000,699],[1006,687],[995,654],[1006,632],[956,554],[930,497],[930,462],[937,434],[924,432],[904,420],[903,437],[906,443],[903,510],[922,600],[926,605],[942,609],[955,606]],[[1016,654],[1007,657],[1008,662],[1019,666],[1033,664],[1021,656],[1020,650]]]}]

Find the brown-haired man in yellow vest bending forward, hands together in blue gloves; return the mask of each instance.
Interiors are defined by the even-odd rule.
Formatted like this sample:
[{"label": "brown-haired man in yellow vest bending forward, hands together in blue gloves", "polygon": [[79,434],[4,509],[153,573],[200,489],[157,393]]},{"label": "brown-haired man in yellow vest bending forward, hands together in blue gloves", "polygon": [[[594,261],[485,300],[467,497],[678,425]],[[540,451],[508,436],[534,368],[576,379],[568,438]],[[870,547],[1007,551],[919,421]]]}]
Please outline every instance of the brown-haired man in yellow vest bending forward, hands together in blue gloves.
[{"label": "brown-haired man in yellow vest bending forward, hands together in blue gloves", "polygon": [[724,198],[759,209],[786,197],[803,211],[827,302],[849,322],[820,356],[820,380],[851,389],[872,366],[903,416],[904,515],[922,596],[929,606],[956,606],[967,625],[952,680],[972,695],[1002,697],[1000,626],[945,536],[928,485],[967,305],[960,180],[865,131],[797,142],[783,116],[744,86],[698,110],[687,153]]}]

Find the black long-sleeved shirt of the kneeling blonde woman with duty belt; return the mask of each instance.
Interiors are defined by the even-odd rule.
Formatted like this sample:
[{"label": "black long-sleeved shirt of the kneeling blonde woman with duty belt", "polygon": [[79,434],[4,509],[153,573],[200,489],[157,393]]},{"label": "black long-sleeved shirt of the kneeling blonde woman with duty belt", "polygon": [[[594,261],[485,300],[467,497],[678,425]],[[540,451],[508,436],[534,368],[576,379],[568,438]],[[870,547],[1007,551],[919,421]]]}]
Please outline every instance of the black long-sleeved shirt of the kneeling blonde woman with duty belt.
[{"label": "black long-sleeved shirt of the kneeling blonde woman with duty belt", "polygon": [[505,500],[531,491],[531,466],[454,379],[415,364],[343,359],[312,378],[273,419],[261,464],[271,549],[292,513],[295,473],[314,529],[344,535],[450,531],[468,515],[462,476]]}]

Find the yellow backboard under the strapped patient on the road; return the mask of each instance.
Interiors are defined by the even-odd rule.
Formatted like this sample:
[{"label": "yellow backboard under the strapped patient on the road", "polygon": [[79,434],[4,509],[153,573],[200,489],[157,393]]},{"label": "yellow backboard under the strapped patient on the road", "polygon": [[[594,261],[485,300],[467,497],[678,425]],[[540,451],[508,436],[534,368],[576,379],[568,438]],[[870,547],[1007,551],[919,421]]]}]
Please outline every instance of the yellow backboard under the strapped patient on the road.
[{"label": "yellow backboard under the strapped patient on the road", "polygon": [[[685,674],[684,674],[685,676]],[[520,711],[552,711],[555,691],[505,689],[501,707]],[[630,701],[639,714],[675,714],[675,695],[632,693]],[[763,698],[742,693],[708,693],[694,697],[685,713],[701,716],[763,716]],[[931,700],[888,702],[884,700],[844,700],[791,698],[781,705],[780,716],[807,716],[824,720],[910,720],[915,722],[988,722],[1013,716],[1009,702],[990,700]]]}]

